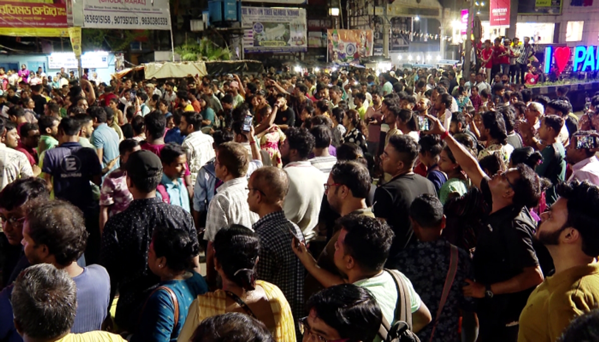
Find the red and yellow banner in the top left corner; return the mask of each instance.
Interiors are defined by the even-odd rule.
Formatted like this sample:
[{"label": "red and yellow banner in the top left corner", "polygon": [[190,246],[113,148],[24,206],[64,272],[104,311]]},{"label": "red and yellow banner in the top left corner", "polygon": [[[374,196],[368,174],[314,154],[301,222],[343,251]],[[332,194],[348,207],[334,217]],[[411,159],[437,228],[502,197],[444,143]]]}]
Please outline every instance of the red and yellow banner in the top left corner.
[{"label": "red and yellow banner in the top left corner", "polygon": [[61,0],[0,0],[0,35],[68,36]]}]

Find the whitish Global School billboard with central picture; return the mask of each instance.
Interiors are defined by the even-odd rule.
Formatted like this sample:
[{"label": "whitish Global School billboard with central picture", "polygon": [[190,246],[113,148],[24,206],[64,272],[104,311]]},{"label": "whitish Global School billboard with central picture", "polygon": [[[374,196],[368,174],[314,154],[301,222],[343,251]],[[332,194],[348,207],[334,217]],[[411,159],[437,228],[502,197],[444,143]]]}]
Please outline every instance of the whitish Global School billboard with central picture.
[{"label": "whitish Global School billboard with central picture", "polygon": [[241,7],[241,25],[245,53],[307,51],[303,8]]}]

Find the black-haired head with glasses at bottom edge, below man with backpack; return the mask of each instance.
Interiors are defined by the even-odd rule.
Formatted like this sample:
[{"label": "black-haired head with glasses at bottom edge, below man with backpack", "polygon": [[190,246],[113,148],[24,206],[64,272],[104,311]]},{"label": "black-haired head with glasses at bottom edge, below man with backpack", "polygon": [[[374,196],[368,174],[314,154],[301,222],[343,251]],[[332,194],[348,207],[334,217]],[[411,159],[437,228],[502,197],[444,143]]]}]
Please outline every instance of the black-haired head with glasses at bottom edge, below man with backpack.
[{"label": "black-haired head with glasses at bottom edge, below man with backpack", "polygon": [[353,284],[331,286],[308,300],[310,313],[299,319],[303,341],[374,340],[383,314],[370,292]]}]

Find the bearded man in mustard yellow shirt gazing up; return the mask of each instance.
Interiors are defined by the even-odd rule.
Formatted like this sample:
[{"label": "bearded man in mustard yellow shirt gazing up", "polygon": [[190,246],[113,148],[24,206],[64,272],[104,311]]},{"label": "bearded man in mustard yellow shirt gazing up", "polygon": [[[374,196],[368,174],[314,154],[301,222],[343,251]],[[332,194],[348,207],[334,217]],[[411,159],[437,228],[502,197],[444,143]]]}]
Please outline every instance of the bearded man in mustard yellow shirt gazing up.
[{"label": "bearded man in mustard yellow shirt gazing up", "polygon": [[519,342],[555,341],[574,317],[598,305],[599,187],[573,181],[559,184],[557,194],[535,234],[549,250],[555,273],[528,297]]}]

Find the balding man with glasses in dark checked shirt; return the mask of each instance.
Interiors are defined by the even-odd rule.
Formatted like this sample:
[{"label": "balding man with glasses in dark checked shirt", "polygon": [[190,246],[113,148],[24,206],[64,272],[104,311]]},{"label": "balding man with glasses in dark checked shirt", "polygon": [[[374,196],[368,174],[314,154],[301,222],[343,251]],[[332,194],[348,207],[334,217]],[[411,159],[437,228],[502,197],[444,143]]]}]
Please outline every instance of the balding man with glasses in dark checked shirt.
[{"label": "balding man with glasses in dark checked shirt", "polygon": [[295,257],[291,240],[304,242],[304,236],[283,211],[289,177],[277,167],[261,167],[250,176],[247,189],[247,204],[260,216],[252,227],[261,246],[256,272],[281,289],[298,319],[304,316],[304,267]]}]

